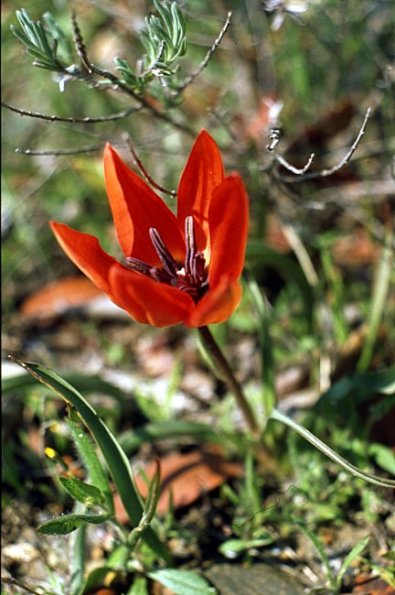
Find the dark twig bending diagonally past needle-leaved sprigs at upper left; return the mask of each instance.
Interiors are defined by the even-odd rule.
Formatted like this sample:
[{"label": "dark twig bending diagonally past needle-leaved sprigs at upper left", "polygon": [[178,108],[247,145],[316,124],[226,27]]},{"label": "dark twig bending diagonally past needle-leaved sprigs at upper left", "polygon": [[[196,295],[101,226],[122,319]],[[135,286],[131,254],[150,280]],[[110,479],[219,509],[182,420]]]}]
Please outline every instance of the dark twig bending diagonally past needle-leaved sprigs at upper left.
[{"label": "dark twig bending diagonally past needle-leaved sprigs at upper left", "polygon": [[133,89],[131,89],[128,85],[123,83],[121,81],[121,79],[119,79],[117,76],[115,76],[115,74],[113,74],[112,72],[110,72],[108,70],[104,70],[104,69],[99,68],[98,66],[95,66],[94,64],[92,64],[92,62],[88,58],[86,46],[85,46],[83,38],[82,38],[81,30],[77,23],[77,17],[76,17],[75,12],[72,13],[71,19],[72,19],[76,49],[77,49],[78,55],[80,56],[80,58],[82,60],[83,65],[85,66],[85,68],[87,69],[89,74],[96,74],[97,76],[100,76],[101,78],[105,78],[105,79],[109,80],[115,87],[121,89],[124,93],[129,95],[129,97],[133,97],[133,99],[138,101],[142,106],[144,106],[146,109],[148,109],[152,114],[154,114],[160,120],[164,120],[168,124],[171,124],[175,128],[178,128],[178,130],[181,130],[182,132],[185,132],[186,134],[189,134],[190,136],[193,136],[193,137],[195,136],[195,132],[192,130],[192,128],[190,128],[186,124],[182,124],[181,122],[177,122],[176,120],[173,120],[173,118],[171,118],[165,112],[162,112],[162,111],[159,111],[158,109],[156,109],[156,107],[154,107],[154,105],[152,105],[143,95],[133,91]]}]

